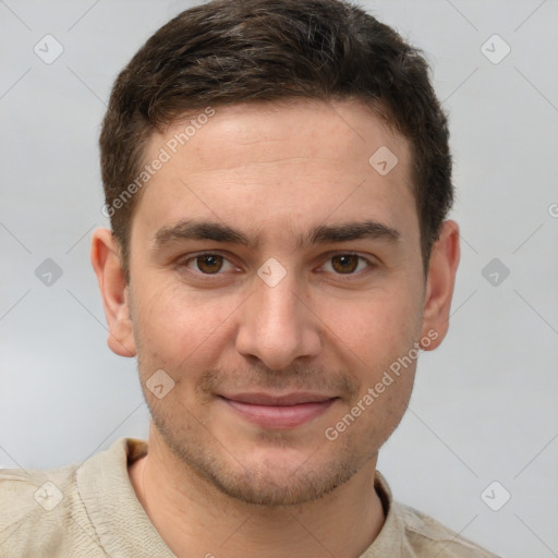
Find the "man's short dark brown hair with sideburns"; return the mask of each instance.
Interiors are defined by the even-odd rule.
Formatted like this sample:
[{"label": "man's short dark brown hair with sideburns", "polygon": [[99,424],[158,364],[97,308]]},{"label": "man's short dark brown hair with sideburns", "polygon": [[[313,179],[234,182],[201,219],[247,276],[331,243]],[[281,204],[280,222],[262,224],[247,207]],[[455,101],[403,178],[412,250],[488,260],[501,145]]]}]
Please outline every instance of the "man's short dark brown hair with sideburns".
[{"label": "man's short dark brown hair with sideburns", "polygon": [[208,106],[290,98],[362,100],[410,141],[427,271],[453,187],[447,118],[421,51],[342,0],[214,0],[158,29],[112,88],[100,165],[128,282],[140,196],[122,194],[142,172],[149,135]]}]

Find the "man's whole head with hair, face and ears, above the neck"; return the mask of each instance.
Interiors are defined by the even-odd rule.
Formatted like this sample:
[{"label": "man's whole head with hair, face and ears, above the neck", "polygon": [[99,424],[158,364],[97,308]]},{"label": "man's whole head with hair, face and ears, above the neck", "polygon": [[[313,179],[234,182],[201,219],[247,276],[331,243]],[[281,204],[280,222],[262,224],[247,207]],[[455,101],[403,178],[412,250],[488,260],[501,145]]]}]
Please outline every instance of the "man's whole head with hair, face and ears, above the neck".
[{"label": "man's whole head with hair, face and ears, above the neck", "polygon": [[[137,355],[177,459],[269,506],[373,461],[417,349],[446,333],[459,260],[421,53],[337,0],[210,2],[118,76],[100,149],[109,347]],[[307,420],[254,420],[264,396],[306,398]]]}]

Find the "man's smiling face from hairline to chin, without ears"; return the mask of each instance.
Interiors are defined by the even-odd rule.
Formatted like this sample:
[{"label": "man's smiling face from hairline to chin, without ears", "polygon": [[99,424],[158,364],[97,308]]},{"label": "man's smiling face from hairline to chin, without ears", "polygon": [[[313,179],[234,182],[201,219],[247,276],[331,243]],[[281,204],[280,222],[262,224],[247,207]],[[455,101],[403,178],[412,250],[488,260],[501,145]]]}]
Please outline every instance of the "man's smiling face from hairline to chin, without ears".
[{"label": "man's smiling face from hairline to chin, without ears", "polygon": [[375,463],[427,335],[409,144],[353,101],[217,108],[175,146],[185,125],[146,149],[170,159],[134,215],[123,341],[187,470],[243,501],[316,499]]}]

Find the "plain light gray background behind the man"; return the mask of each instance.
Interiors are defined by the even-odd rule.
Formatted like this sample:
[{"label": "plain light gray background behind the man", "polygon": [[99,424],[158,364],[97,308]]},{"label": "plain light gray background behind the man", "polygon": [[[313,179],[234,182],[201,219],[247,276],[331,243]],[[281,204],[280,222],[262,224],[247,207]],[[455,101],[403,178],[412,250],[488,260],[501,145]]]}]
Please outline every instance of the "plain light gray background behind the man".
[{"label": "plain light gray background behind the man", "polygon": [[[117,72],[189,5],[0,1],[0,466],[60,466],[147,435],[135,360],[107,348],[89,264],[108,226],[96,143]],[[558,556],[557,1],[362,5],[428,53],[462,231],[449,335],[421,356],[378,469],[397,499],[498,554]],[[34,52],[47,34],[64,49],[51,64]],[[494,34],[511,48],[499,63],[482,51]],[[62,269],[50,287],[35,276],[46,258]]]}]

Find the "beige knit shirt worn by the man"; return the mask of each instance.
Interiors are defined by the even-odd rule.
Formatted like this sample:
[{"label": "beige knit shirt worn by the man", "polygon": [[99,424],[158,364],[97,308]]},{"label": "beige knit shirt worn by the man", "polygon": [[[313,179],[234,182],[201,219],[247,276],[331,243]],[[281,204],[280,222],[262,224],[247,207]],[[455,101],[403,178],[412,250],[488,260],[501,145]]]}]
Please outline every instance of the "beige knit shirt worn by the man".
[{"label": "beige knit shirt worn by the man", "polygon": [[[172,558],[140,504],[128,465],[147,442],[121,438],[81,464],[49,471],[0,470],[2,558]],[[386,521],[360,558],[497,558],[374,485]],[[211,549],[208,549],[210,553]]]}]

